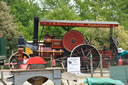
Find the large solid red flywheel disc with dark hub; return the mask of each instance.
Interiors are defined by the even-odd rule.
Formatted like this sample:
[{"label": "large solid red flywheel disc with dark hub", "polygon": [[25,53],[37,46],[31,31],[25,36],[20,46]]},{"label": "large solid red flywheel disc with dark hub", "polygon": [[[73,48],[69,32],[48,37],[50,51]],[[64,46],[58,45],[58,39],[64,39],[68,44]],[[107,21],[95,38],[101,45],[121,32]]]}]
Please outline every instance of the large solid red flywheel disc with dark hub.
[{"label": "large solid red flywheel disc with dark hub", "polygon": [[63,37],[64,48],[71,52],[77,45],[84,44],[85,40],[81,32],[71,30],[67,32]]}]

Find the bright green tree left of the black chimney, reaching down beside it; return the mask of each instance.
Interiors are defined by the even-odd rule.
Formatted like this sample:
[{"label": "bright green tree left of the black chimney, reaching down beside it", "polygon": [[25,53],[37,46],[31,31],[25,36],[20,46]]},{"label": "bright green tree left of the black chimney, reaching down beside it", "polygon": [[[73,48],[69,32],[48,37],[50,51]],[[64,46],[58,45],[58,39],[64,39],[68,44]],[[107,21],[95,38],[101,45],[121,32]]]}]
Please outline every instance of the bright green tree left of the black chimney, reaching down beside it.
[{"label": "bright green tree left of the black chimney, reaching down beside it", "polygon": [[33,18],[41,16],[42,11],[36,0],[4,0],[11,8],[18,30],[26,40],[33,39]]}]

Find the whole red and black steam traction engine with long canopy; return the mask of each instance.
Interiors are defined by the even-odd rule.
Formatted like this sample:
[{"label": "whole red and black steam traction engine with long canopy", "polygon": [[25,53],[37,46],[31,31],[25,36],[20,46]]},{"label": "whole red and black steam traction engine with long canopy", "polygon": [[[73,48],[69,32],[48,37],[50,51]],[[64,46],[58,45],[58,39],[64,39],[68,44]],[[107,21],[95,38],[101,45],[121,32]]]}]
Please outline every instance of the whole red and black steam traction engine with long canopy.
[{"label": "whole red and black steam traction engine with long canopy", "polygon": [[[44,59],[55,58],[56,61],[65,63],[67,57],[80,57],[81,72],[85,73],[90,71],[90,59],[93,56],[93,68],[96,69],[99,65],[100,54],[108,52],[109,56],[112,56],[113,52],[116,53],[116,42],[114,42],[112,31],[113,27],[118,27],[117,22],[89,22],[89,21],[64,21],[64,20],[42,20],[41,26],[61,26],[61,27],[102,27],[110,28],[110,43],[111,49],[109,51],[98,51],[92,45],[89,44],[87,37],[84,37],[79,31],[68,30],[62,39],[57,39],[55,36],[50,36],[48,32],[44,37],[44,42],[38,40],[38,18],[34,18],[34,37],[33,43],[28,43],[23,37],[18,39],[18,47],[25,48],[23,55],[19,52],[14,53],[9,63],[18,63],[14,67],[18,67],[23,62],[24,57],[40,56]],[[42,44],[39,44],[42,43]],[[18,50],[19,51],[19,50]],[[20,61],[20,62],[19,62]],[[66,65],[66,63],[65,63]],[[10,65],[12,67],[12,65]]]}]

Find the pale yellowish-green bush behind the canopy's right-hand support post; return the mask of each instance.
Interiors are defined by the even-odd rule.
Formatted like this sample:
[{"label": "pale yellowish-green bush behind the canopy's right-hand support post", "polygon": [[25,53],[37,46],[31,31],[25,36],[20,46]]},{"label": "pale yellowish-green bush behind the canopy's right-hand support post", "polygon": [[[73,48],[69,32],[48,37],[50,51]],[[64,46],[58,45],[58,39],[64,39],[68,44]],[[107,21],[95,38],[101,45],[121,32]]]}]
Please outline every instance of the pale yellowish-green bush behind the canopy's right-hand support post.
[{"label": "pale yellowish-green bush behind the canopy's right-hand support post", "polygon": [[[107,45],[109,47],[109,28],[92,28],[84,31],[84,36],[88,36],[91,40],[91,44],[95,46],[97,49],[103,49],[103,45]],[[118,40],[118,47],[122,47],[123,49],[128,49],[128,31],[125,31],[123,26],[119,26],[118,28],[114,28],[114,38]]]}]

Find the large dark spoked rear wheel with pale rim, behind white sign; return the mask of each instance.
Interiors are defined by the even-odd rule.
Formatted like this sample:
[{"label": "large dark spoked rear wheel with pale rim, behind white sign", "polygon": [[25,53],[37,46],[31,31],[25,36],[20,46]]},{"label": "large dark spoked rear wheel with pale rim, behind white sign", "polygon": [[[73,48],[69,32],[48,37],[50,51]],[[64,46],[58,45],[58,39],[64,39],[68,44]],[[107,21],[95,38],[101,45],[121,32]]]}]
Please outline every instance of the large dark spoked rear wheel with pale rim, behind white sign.
[{"label": "large dark spoked rear wheel with pale rim, behind white sign", "polygon": [[76,46],[71,54],[70,57],[80,57],[81,62],[81,73],[90,72],[90,57],[92,56],[93,59],[93,70],[95,70],[100,62],[100,54],[91,45],[78,45]]}]

